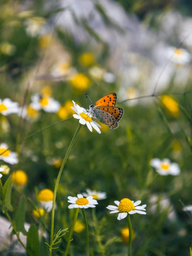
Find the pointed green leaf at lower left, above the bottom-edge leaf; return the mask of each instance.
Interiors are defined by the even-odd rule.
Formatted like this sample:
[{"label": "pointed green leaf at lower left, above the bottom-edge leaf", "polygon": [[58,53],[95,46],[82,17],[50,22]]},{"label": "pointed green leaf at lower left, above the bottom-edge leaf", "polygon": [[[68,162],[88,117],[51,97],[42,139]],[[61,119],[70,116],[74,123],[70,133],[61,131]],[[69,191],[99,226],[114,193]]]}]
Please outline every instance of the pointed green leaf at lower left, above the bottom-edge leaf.
[{"label": "pointed green leaf at lower left, above the bottom-edge leaf", "polygon": [[14,227],[17,232],[22,232],[25,236],[27,235],[27,232],[24,228],[25,223],[25,196],[23,195],[20,199],[18,208],[14,215]]}]

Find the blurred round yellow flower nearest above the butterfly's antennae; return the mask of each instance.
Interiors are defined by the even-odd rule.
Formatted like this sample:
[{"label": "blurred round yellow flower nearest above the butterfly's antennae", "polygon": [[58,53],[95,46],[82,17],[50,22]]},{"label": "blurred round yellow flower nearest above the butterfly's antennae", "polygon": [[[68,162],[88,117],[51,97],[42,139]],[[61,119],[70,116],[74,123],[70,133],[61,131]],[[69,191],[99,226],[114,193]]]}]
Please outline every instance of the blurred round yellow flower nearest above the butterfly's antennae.
[{"label": "blurred round yellow flower nearest above the butterfly's antennae", "polygon": [[86,91],[91,84],[91,80],[86,75],[79,73],[72,77],[71,84],[75,89],[78,89],[79,91]]}]

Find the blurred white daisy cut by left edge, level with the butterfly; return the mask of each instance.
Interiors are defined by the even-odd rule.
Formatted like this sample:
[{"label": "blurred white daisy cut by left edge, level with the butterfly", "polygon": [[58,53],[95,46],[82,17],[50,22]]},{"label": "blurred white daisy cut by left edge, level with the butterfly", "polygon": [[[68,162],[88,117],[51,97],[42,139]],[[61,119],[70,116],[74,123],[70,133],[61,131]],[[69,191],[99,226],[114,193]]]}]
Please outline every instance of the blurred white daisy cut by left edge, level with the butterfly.
[{"label": "blurred white daisy cut by left edge, level with the butterfly", "polygon": [[0,114],[7,116],[8,114],[18,113],[19,107],[17,102],[13,102],[6,98],[4,100],[0,99]]}]

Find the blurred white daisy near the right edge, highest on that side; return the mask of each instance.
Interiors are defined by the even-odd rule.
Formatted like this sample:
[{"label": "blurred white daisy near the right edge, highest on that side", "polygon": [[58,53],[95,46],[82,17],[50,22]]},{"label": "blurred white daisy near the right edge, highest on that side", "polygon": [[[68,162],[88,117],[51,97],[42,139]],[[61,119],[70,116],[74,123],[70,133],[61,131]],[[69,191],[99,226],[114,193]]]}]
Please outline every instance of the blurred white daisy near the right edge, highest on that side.
[{"label": "blurred white daisy near the right edge, highest on that side", "polygon": [[185,65],[191,61],[191,54],[187,50],[173,46],[167,47],[166,56],[176,64]]}]

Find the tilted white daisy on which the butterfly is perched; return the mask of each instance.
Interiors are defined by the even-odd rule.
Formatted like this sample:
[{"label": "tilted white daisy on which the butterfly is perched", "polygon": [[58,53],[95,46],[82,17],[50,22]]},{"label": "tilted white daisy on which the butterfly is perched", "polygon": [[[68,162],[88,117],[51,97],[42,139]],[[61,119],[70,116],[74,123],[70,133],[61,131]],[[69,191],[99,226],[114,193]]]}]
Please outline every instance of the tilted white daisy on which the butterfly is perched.
[{"label": "tilted white daisy on which the butterfly is perched", "polygon": [[[81,108],[78,104],[76,104],[74,101],[72,101],[74,104],[74,107],[71,107],[77,114],[73,114],[73,117],[76,119],[79,119],[79,122],[81,125],[87,125],[88,129],[92,132],[93,128],[100,134],[101,131],[98,127],[101,128],[101,126],[92,120],[92,115],[87,112],[86,109]],[[92,128],[93,127],[93,128]]]}]

